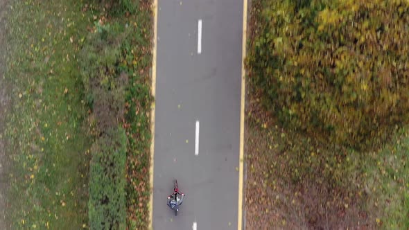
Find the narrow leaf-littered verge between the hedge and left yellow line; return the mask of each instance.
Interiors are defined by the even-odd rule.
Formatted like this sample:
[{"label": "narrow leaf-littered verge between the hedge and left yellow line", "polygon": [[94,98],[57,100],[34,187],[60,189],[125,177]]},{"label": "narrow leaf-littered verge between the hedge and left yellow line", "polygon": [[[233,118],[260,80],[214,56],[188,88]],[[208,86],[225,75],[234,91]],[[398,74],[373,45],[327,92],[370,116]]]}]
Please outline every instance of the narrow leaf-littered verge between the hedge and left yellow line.
[{"label": "narrow leaf-littered verge between the hedge and left yellow line", "polygon": [[139,8],[130,18],[134,35],[124,46],[124,60],[130,76],[125,94],[125,123],[128,135],[127,226],[148,229],[150,200],[150,67],[152,65],[153,14],[151,1],[139,1]]}]

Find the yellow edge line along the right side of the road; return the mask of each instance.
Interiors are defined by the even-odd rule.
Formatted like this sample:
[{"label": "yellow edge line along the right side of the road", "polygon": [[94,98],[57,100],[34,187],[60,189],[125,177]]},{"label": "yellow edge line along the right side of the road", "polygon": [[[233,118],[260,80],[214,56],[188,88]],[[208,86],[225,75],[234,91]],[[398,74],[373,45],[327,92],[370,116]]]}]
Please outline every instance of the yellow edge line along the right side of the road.
[{"label": "yellow edge line along the right side of the road", "polygon": [[240,157],[238,164],[238,218],[237,229],[243,229],[243,161],[244,161],[244,110],[245,110],[245,55],[247,39],[247,0],[243,0],[243,42],[241,50],[241,105],[240,105]]}]

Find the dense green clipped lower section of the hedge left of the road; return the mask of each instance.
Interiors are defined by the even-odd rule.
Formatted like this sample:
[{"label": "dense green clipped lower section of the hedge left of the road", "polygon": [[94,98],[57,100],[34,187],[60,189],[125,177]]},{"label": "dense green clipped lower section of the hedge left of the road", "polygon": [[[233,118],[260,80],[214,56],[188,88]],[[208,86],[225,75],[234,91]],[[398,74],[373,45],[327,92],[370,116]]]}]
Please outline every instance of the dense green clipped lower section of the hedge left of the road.
[{"label": "dense green clipped lower section of the hedge left of the road", "polygon": [[126,135],[111,129],[92,145],[89,179],[91,229],[125,229]]}]

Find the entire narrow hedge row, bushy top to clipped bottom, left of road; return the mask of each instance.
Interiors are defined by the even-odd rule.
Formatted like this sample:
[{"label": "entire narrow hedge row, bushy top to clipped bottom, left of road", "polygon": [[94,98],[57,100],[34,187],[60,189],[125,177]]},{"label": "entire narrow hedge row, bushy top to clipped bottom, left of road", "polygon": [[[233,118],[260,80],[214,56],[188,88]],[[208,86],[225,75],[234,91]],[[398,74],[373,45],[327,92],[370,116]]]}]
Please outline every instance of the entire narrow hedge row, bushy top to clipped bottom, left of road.
[{"label": "entire narrow hedge row, bushy top to clipped bottom, left of road", "polygon": [[[80,52],[80,72],[99,139],[92,145],[89,172],[91,229],[125,229],[127,136],[119,127],[128,75],[120,71],[127,32],[119,24],[96,24]],[[92,124],[93,125],[93,124]],[[119,128],[118,128],[119,127]]]}]

